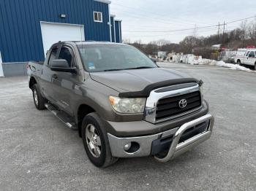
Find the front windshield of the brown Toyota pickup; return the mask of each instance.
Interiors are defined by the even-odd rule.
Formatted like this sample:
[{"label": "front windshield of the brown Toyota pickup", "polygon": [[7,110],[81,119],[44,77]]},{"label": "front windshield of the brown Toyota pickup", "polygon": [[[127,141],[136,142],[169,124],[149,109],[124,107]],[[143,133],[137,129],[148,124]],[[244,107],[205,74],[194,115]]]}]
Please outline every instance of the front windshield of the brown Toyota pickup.
[{"label": "front windshield of the brown Toyota pickup", "polygon": [[83,65],[89,72],[157,68],[135,47],[124,45],[79,45]]}]

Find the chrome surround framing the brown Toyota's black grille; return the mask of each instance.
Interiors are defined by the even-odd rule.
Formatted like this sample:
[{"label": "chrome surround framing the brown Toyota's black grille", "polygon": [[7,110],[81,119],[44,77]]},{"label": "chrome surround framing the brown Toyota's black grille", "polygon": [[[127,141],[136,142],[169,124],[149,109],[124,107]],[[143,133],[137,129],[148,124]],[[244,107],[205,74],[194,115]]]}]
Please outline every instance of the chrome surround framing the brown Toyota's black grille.
[{"label": "chrome surround framing the brown Toyota's black grille", "polygon": [[201,109],[202,106],[203,106],[202,93],[200,93],[202,103],[201,103],[201,106],[199,108],[192,109],[188,112],[184,112],[182,114],[177,114],[175,116],[167,117],[167,118],[162,119],[162,120],[156,120],[157,103],[160,99],[170,98],[170,97],[174,97],[174,96],[177,96],[177,95],[184,95],[184,94],[187,94],[187,93],[193,93],[193,92],[196,92],[196,91],[200,91],[200,85],[198,85],[197,83],[189,83],[189,84],[194,85],[194,86],[178,89],[178,87],[181,87],[181,85],[173,85],[173,86],[169,86],[169,87],[174,87],[174,88],[176,88],[176,90],[171,90],[171,91],[167,91],[167,92],[159,92],[159,93],[157,93],[157,91],[162,90],[162,89],[166,89],[167,87],[161,87],[157,90],[152,90],[149,97],[147,98],[147,101],[146,101],[144,120],[146,120],[148,122],[151,122],[151,123],[164,122],[164,121],[167,121],[167,120],[172,120],[172,119],[190,114],[192,112],[196,112],[197,110]]}]

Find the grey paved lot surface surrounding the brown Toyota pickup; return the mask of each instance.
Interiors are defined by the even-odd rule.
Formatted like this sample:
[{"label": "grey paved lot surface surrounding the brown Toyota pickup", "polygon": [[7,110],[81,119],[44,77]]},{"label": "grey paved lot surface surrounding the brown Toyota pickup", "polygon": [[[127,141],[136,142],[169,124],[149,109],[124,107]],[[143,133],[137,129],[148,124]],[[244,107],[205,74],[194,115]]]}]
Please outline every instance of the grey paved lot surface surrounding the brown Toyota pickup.
[{"label": "grey paved lot surface surrounding the brown Toyota pickup", "polygon": [[168,163],[91,165],[78,132],[34,107],[26,77],[0,78],[0,190],[255,190],[256,74],[160,63],[203,79],[211,139]]}]

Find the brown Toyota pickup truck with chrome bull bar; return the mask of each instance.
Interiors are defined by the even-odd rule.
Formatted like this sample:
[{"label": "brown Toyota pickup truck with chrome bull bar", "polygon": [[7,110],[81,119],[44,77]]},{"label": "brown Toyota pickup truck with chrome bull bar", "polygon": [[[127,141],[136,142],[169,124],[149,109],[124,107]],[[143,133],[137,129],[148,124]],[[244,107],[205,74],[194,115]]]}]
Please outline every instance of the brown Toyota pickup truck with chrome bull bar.
[{"label": "brown Toyota pickup truck with chrome bull bar", "polygon": [[59,42],[29,62],[37,109],[78,130],[91,163],[154,156],[165,163],[209,139],[203,81],[163,69],[127,44]]}]

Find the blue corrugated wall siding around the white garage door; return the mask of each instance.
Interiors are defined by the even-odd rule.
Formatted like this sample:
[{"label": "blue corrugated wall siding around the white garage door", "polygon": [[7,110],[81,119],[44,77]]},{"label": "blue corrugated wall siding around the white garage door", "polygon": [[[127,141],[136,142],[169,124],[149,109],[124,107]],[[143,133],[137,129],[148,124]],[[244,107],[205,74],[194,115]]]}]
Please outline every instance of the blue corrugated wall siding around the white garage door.
[{"label": "blue corrugated wall siding around the white garage door", "polygon": [[[94,11],[102,12],[103,23],[94,22]],[[108,4],[93,0],[0,0],[4,63],[44,59],[40,21],[84,25],[86,40],[110,41]]]}]

